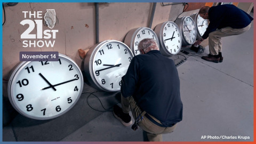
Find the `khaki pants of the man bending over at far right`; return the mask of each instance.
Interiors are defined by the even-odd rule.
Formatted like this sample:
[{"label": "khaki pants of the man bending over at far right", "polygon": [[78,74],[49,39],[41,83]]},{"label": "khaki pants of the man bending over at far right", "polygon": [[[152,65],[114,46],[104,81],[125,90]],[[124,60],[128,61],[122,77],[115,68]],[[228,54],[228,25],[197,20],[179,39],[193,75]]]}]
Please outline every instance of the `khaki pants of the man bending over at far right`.
[{"label": "khaki pants of the man bending over at far right", "polygon": [[241,28],[241,29],[225,27],[225,28],[221,28],[221,29],[217,29],[215,31],[212,31],[209,34],[209,51],[210,51],[210,54],[218,55],[219,52],[221,52],[221,47],[222,47],[221,37],[243,34],[245,31],[249,30],[250,27],[251,27],[251,23],[247,27]]}]

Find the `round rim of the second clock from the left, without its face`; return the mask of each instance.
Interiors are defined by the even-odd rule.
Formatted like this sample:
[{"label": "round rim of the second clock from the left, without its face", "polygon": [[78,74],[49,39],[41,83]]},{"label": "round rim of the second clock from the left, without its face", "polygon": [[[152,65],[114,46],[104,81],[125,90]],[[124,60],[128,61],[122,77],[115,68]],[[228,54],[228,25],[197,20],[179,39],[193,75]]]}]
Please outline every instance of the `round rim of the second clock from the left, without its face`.
[{"label": "round rim of the second clock from the left, without its face", "polygon": [[[120,43],[120,44],[123,44],[127,49],[128,49],[128,51],[130,51],[130,53],[132,54],[132,58],[134,57],[133,56],[133,53],[132,53],[132,51],[131,51],[131,49],[129,48],[129,46],[127,46],[125,43],[123,43],[123,42],[120,42],[120,41],[116,41],[116,40],[106,40],[106,41],[103,41],[103,42],[101,42],[101,43],[98,43],[98,44],[95,44],[93,47],[94,47],[94,49],[92,50],[92,52],[90,53],[90,60],[89,60],[89,73],[90,73],[90,76],[91,76],[91,80],[92,80],[92,82],[93,82],[93,84],[95,85],[95,86],[97,86],[100,90],[102,90],[102,91],[107,91],[107,92],[117,92],[117,91],[120,91],[120,89],[119,90],[113,90],[113,91],[111,91],[111,90],[108,90],[108,89],[106,89],[105,87],[103,87],[103,86],[101,86],[99,83],[98,83],[98,81],[97,81],[97,79],[95,78],[95,76],[94,76],[94,71],[93,71],[93,60],[94,60],[94,57],[95,57],[95,55],[97,54],[97,52],[98,52],[98,50],[99,49],[101,49],[101,47],[103,46],[103,45],[105,45],[105,44],[107,44],[107,43],[111,43],[111,42],[116,42],[116,43]],[[93,47],[91,47],[91,49],[93,48]]]}]

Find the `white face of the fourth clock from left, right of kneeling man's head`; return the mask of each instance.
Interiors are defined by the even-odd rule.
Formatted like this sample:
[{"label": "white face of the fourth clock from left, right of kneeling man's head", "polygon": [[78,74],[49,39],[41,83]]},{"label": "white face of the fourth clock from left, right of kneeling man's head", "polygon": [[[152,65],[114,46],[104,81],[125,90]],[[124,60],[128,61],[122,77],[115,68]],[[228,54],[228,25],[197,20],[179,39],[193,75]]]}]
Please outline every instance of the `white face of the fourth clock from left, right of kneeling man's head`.
[{"label": "white face of the fourth clock from left, right of kneeling man's head", "polygon": [[165,48],[171,54],[177,54],[181,49],[181,34],[179,27],[174,22],[166,22],[163,27],[163,44]]}]

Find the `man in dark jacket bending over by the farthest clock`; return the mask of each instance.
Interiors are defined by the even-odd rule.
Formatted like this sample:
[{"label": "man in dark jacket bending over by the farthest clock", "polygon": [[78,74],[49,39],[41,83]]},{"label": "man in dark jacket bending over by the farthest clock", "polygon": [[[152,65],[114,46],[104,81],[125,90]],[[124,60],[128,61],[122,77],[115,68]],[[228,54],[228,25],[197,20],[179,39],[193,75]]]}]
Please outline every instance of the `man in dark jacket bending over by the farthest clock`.
[{"label": "man in dark jacket bending over by the farthest clock", "polygon": [[216,63],[223,61],[221,37],[244,33],[250,29],[253,20],[249,14],[232,4],[204,6],[198,14],[203,19],[209,19],[210,23],[203,38],[198,39],[194,45],[200,44],[209,37],[210,54],[202,59]]}]

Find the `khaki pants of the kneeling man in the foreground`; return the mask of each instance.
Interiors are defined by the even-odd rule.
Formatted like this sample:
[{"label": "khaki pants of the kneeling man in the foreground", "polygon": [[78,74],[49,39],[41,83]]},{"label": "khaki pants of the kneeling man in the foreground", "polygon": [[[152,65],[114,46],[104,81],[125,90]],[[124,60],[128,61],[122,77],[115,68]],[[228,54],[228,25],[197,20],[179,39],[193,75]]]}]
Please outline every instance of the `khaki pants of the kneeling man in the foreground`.
[{"label": "khaki pants of the kneeling man in the foreground", "polygon": [[[131,108],[134,119],[136,119],[143,112],[136,105],[133,97],[124,98],[123,95],[121,95],[121,104],[123,112],[126,114],[129,113]],[[160,123],[156,118],[153,116],[151,117]],[[172,127],[161,127],[152,123],[146,116],[143,116],[142,121],[139,121],[138,125],[142,130],[146,131],[149,141],[163,141],[162,134],[173,132],[177,124],[173,125]]]}]

